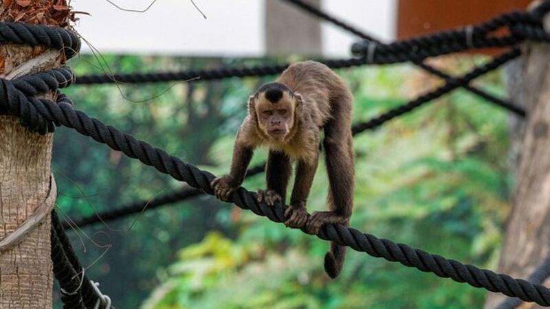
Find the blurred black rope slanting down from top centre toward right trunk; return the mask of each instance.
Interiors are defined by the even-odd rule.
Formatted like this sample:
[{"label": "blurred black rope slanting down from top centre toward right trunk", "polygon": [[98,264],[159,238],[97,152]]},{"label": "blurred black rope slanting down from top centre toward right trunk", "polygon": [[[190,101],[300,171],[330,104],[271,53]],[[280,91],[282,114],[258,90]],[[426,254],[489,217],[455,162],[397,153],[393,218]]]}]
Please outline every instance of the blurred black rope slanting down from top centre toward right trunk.
[{"label": "blurred black rope slanting down from top centre toward right trunk", "polygon": [[[356,36],[359,36],[360,38],[364,39],[365,41],[369,43],[375,43],[377,45],[382,44],[380,40],[377,38],[374,38],[373,36],[367,34],[366,32],[359,30],[357,27],[354,27],[353,25],[350,25],[349,23],[345,23],[344,21],[340,21],[339,19],[336,19],[336,17],[331,16],[327,12],[320,10],[319,8],[316,8],[313,5],[310,5],[309,3],[306,3],[302,0],[283,0],[287,3],[291,3],[292,5],[296,5],[298,8],[301,8],[305,12],[312,14],[320,19],[323,19],[325,21],[329,21],[330,23],[333,23],[334,25],[342,28],[343,30],[346,30],[347,32],[350,32],[351,34],[355,34]],[[473,28],[472,28],[473,33]],[[525,35],[527,36],[527,35]],[[357,48],[357,47],[356,47]],[[366,47],[369,48],[368,45]],[[427,65],[422,60],[413,60],[412,61],[415,65],[418,67],[421,67],[425,71],[435,75],[439,76],[440,78],[443,78],[445,81],[449,81],[452,79],[452,76],[448,75],[447,73],[440,71],[430,65]],[[506,108],[507,110],[516,113],[517,115],[520,115],[521,117],[525,117],[525,110],[521,108],[520,106],[507,102],[505,100],[496,98],[494,95],[491,95],[481,89],[478,89],[477,87],[470,86],[470,84],[466,84],[464,87],[467,91],[470,91],[471,93],[474,93],[478,95],[481,98],[484,98],[485,100],[488,100],[489,102],[493,102],[494,104],[501,106],[503,108]]]}]

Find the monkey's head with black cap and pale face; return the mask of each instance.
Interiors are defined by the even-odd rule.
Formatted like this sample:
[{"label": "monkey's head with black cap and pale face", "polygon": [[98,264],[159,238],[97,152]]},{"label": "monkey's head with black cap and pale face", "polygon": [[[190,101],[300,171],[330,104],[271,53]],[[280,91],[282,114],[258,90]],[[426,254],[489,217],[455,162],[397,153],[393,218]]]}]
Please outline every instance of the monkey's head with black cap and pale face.
[{"label": "monkey's head with black cap and pale face", "polygon": [[263,135],[285,141],[297,124],[301,104],[298,93],[280,82],[270,82],[250,96],[248,111]]}]

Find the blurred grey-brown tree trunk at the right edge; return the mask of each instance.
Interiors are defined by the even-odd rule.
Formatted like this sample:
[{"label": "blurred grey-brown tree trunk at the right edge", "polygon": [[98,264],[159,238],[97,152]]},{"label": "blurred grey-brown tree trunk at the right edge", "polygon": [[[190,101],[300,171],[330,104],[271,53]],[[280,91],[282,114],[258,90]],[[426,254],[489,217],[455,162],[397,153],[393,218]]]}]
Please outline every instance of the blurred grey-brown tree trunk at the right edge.
[{"label": "blurred grey-brown tree trunk at the right edge", "polygon": [[[550,31],[549,16],[544,28]],[[522,49],[518,67],[510,71],[514,76],[509,78],[509,89],[518,89],[514,96],[521,99],[529,117],[518,130],[524,135],[516,193],[498,272],[527,278],[550,254],[550,46],[525,44]],[[489,293],[485,308],[494,308],[504,298]]]}]

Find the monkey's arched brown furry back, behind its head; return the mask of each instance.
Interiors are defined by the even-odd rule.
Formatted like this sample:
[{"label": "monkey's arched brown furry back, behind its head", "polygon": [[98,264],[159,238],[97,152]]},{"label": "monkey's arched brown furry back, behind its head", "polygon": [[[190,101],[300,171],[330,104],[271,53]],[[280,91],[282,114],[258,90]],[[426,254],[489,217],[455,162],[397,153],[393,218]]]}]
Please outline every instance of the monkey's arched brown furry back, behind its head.
[{"label": "monkey's arched brown furry back, behind its head", "polygon": [[311,117],[320,127],[334,113],[351,117],[351,91],[327,65],[312,60],[296,62],[281,73],[278,82],[302,96],[305,110],[311,111]]}]

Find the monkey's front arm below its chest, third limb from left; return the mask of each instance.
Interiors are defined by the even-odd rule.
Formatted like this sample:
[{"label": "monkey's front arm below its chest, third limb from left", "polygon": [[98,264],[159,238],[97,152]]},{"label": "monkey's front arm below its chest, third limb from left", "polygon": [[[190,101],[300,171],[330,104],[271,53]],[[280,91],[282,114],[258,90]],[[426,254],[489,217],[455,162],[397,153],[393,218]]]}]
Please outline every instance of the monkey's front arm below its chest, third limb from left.
[{"label": "monkey's front arm below its chest, third limb from left", "polygon": [[290,207],[285,211],[285,217],[287,217],[285,225],[287,227],[303,227],[307,222],[307,196],[309,196],[309,190],[311,190],[311,184],[314,181],[318,160],[319,152],[316,152],[310,160],[298,161],[296,179],[290,197]]}]

